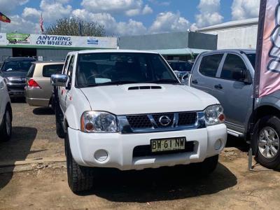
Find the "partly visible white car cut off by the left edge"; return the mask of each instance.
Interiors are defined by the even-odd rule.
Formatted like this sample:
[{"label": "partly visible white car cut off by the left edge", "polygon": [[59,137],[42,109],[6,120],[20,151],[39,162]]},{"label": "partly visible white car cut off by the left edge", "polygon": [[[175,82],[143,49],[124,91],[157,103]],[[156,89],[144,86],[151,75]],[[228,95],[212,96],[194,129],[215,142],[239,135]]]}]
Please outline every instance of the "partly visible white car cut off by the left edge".
[{"label": "partly visible white car cut off by the left edge", "polygon": [[12,135],[12,107],[3,77],[0,76],[0,141],[8,141]]}]

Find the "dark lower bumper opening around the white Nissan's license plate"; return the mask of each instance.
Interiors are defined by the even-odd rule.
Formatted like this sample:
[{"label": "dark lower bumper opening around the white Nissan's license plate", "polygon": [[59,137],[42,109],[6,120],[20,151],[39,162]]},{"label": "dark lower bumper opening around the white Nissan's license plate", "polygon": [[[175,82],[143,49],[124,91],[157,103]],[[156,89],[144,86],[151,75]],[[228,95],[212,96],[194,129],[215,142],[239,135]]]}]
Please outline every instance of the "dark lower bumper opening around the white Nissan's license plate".
[{"label": "dark lower bumper opening around the white Nissan's license plate", "polygon": [[178,151],[164,151],[164,152],[157,152],[152,153],[151,145],[142,145],[136,146],[133,150],[133,158],[138,157],[145,157],[145,156],[154,156],[154,155],[167,155],[167,154],[175,154],[175,153],[190,153],[194,151],[194,142],[193,141],[186,141],[185,149],[178,150]]}]

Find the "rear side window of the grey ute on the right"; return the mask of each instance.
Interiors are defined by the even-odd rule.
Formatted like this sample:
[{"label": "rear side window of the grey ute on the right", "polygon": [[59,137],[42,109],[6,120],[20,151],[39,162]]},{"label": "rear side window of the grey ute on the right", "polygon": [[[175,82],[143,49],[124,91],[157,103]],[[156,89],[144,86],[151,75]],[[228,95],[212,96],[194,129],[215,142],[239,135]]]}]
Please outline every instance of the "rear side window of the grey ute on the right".
[{"label": "rear side window of the grey ute on the right", "polygon": [[223,58],[223,54],[207,55],[202,57],[200,63],[200,73],[204,76],[216,77],[218,66]]}]

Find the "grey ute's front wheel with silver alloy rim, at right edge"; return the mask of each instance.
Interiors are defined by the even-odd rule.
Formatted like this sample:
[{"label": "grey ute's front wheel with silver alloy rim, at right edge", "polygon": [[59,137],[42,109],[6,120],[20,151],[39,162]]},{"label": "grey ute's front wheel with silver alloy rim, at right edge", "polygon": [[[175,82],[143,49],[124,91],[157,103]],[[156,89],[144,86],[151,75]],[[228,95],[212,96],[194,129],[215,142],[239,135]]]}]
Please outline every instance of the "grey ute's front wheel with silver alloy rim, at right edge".
[{"label": "grey ute's front wheel with silver alloy rim, at right edge", "polygon": [[252,146],[255,158],[260,165],[268,169],[280,166],[280,119],[265,116],[255,124]]}]

